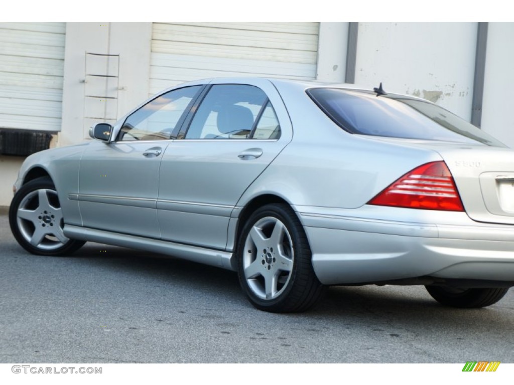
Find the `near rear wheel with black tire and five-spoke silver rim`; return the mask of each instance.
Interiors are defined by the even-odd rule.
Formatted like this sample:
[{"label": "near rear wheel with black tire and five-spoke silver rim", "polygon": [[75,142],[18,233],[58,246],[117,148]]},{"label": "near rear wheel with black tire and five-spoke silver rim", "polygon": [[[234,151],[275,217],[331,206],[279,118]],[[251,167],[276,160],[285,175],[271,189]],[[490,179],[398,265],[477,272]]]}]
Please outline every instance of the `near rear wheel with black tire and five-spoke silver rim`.
[{"label": "near rear wheel with black tire and five-spoke silver rim", "polygon": [[287,204],[256,209],[244,224],[236,255],[241,287],[257,309],[302,312],[325,291],[314,273],[303,227]]}]

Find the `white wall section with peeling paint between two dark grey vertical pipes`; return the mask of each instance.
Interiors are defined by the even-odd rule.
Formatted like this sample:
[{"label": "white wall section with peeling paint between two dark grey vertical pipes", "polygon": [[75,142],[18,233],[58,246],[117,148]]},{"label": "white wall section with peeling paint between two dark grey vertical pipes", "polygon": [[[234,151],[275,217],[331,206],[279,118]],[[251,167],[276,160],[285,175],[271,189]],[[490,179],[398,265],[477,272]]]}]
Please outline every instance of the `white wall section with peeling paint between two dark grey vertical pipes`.
[{"label": "white wall section with peeling paint between two dark grey vertical pipes", "polygon": [[355,84],[408,93],[471,119],[476,23],[359,23]]}]

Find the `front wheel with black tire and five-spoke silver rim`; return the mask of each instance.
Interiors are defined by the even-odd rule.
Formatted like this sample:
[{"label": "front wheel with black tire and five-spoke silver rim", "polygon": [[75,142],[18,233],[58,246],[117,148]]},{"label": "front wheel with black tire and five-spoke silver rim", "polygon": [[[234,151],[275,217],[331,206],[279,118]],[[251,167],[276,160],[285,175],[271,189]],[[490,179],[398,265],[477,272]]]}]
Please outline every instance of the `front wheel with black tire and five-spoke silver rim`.
[{"label": "front wheel with black tire and five-spoke silver rim", "polygon": [[62,233],[61,205],[48,177],[27,182],[16,192],[9,207],[9,225],[16,241],[32,254],[69,255],[85,243]]}]

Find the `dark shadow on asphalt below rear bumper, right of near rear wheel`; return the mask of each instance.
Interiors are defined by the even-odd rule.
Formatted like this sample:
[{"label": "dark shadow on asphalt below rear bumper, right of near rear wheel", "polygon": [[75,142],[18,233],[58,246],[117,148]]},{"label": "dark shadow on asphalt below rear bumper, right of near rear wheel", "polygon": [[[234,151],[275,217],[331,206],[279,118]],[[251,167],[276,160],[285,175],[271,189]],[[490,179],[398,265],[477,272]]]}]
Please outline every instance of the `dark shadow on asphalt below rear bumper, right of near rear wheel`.
[{"label": "dark shadow on asphalt below rear bumper, right of near rear wheel", "polygon": [[512,310],[501,301],[482,309],[443,306],[430,297],[424,286],[366,285],[329,287],[310,315],[356,324],[365,319],[366,323],[375,321],[386,326],[384,329],[389,325],[416,335],[436,336],[442,330],[454,330],[459,340],[475,333],[493,336],[494,331],[505,330],[506,325],[513,324]]}]

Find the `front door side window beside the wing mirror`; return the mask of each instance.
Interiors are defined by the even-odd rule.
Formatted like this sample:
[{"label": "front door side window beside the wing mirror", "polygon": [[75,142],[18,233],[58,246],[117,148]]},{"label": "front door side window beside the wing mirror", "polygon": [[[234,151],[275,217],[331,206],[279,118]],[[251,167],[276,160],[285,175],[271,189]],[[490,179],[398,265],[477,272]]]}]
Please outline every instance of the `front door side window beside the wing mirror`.
[{"label": "front door side window beside the wing mirror", "polygon": [[160,95],[128,115],[119,141],[175,139],[177,123],[185,115],[201,86],[179,88]]}]

